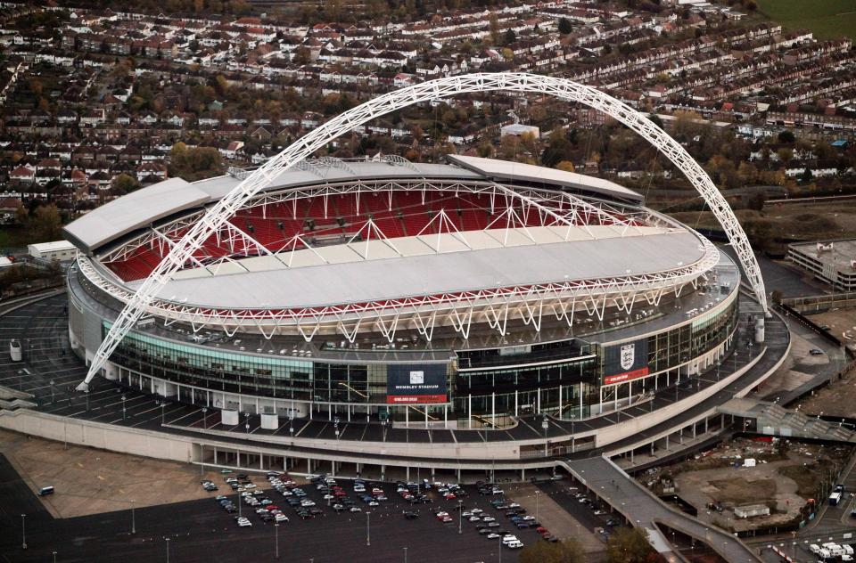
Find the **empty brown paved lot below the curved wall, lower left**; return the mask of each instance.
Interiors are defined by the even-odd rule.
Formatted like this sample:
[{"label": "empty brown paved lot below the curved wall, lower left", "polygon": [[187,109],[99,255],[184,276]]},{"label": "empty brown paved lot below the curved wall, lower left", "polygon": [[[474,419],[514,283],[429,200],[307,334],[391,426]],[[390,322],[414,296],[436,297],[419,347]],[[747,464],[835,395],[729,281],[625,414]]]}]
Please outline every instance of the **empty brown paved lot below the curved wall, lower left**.
[{"label": "empty brown paved lot below the curved wall, lower left", "polygon": [[0,430],[0,452],[33,491],[45,485],[56,487],[56,493],[43,502],[58,518],[207,498],[216,493],[205,492],[200,480],[207,477],[223,484],[218,472],[202,475],[187,463],[75,445],[64,449],[61,442],[5,430]]}]

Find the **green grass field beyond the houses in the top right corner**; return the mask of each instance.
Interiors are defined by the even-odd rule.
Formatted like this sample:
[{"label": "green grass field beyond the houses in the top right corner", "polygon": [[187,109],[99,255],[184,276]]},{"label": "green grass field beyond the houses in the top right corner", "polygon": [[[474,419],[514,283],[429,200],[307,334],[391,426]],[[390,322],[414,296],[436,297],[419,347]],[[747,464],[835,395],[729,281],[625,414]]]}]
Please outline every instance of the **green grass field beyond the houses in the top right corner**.
[{"label": "green grass field beyond the houses in the top right corner", "polygon": [[856,39],[853,0],[756,0],[761,12],[786,29],[811,29],[814,37]]}]

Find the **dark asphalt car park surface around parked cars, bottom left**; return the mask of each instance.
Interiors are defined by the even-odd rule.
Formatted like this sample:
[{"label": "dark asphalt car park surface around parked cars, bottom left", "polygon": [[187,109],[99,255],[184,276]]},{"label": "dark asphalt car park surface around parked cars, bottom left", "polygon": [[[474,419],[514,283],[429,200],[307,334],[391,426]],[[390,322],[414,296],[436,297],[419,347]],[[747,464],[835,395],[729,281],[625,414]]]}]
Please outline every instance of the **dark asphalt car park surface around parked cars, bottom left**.
[{"label": "dark asphalt car park surface around parked cars, bottom left", "polygon": [[[268,485],[263,477],[253,478],[257,485]],[[252,526],[241,528],[233,517],[222,510],[213,497],[231,493],[222,483],[220,491],[211,493],[211,499],[180,502],[135,510],[136,534],[131,534],[132,518],[129,510],[107,512],[94,516],[53,519],[32,494],[21,477],[4,458],[0,458],[0,561],[62,562],[121,561],[122,563],[151,563],[173,561],[273,561],[276,560],[276,527],[264,523],[251,507],[243,506],[243,515],[251,519]],[[403,561],[407,548],[407,561],[437,561],[469,563],[499,559],[498,539],[487,539],[477,534],[475,525],[463,519],[462,534],[458,534],[458,518],[442,524],[430,510],[440,507],[457,517],[453,507],[457,501],[441,499],[431,493],[431,504],[410,507],[395,494],[394,485],[383,485],[389,497],[380,507],[369,508],[352,494],[350,483],[340,481],[350,498],[366,512],[341,514],[326,507],[321,494],[314,486],[304,490],[308,498],[317,502],[324,514],[314,519],[301,520],[283,497],[268,491],[272,501],[290,518],[279,526],[280,560],[310,561],[317,563],[349,561],[352,563],[376,561]],[[481,496],[474,487],[469,493],[465,508],[481,508],[497,519],[501,527],[515,534],[525,544],[543,541],[534,529],[515,529],[508,519],[490,507],[490,499]],[[62,494],[61,492],[57,494]],[[230,494],[235,499],[236,494]],[[402,510],[416,510],[420,518],[407,520]],[[22,549],[21,514],[26,514],[27,550]],[[366,544],[366,521],[368,540]],[[502,560],[516,561],[518,551],[503,548]]]}]

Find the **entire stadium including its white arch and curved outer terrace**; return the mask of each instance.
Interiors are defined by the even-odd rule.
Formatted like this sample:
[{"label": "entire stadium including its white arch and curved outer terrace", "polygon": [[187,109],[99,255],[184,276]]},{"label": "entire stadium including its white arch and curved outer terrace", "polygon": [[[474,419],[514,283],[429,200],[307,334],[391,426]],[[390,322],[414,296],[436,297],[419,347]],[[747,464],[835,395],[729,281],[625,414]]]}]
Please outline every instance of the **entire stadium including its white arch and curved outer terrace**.
[{"label": "entire stadium including its white arch and curved outer terrace", "polygon": [[[605,179],[454,154],[312,156],[421,97],[545,84],[663,151],[736,257]],[[525,470],[724,428],[718,405],[786,347],[764,357],[761,276],[715,186],[614,103],[533,75],[435,80],[349,110],[257,169],[171,178],[96,208],[65,228],[79,250],[67,283],[70,347],[88,371],[78,390],[97,376],[185,405],[168,426],[194,433],[175,437],[191,449],[158,455],[260,469],[300,458],[308,472]]]}]

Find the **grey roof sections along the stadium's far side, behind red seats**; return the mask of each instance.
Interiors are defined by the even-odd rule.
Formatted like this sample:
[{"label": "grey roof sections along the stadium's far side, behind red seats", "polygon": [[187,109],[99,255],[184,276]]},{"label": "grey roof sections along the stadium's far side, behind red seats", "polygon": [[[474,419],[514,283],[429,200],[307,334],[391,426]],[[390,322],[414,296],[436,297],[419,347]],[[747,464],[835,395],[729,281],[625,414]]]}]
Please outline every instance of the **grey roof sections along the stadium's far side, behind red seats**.
[{"label": "grey roof sections along the stadium's far side, behind red seats", "polygon": [[[502,160],[454,155],[447,158],[457,166],[411,163],[403,160],[340,161],[341,164],[315,162],[282,172],[265,191],[340,183],[354,179],[493,179],[538,183],[544,187],[589,192],[595,196],[609,196],[634,203],[642,201],[642,196],[636,192],[591,176]],[[218,176],[193,184],[180,178],[170,178],[86,213],[66,225],[63,233],[78,249],[92,254],[96,249],[118,241],[129,233],[150,227],[161,219],[203,208],[224,197],[239,183],[240,179],[233,175]]]}]

